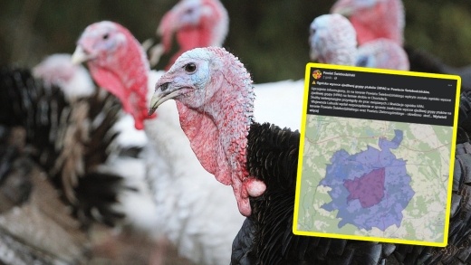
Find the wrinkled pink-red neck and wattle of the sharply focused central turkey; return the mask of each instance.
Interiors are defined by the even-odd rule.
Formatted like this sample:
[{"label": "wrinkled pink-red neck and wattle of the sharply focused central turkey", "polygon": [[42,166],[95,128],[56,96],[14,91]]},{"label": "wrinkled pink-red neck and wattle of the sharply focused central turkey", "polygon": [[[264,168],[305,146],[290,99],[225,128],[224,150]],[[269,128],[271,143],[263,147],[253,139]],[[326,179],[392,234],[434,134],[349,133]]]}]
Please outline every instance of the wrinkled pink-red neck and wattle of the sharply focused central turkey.
[{"label": "wrinkled pink-red neck and wattle of the sharply focused central turkey", "polygon": [[205,104],[188,108],[177,100],[180,124],[201,165],[217,181],[232,185],[239,211],[248,216],[251,210],[245,186],[245,154],[254,111],[252,80],[238,61],[212,71],[208,81],[212,87],[205,90]]}]

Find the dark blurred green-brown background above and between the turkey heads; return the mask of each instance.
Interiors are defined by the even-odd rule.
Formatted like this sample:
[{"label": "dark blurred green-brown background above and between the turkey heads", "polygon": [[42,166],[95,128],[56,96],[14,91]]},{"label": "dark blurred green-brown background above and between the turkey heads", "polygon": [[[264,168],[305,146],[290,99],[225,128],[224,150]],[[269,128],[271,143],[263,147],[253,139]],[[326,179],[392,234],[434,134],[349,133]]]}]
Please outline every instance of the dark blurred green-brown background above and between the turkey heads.
[{"label": "dark blurred green-brown background above and between the turkey heads", "polygon": [[[229,13],[224,46],[255,82],[299,80],[309,62],[309,24],[335,1],[221,0]],[[406,44],[452,66],[471,63],[471,1],[408,0]],[[163,14],[178,0],[0,1],[0,64],[31,67],[46,55],[72,53],[85,27],[101,20],[123,24],[139,42],[156,37]],[[157,39],[159,41],[159,39]],[[177,51],[177,46],[174,47]],[[156,69],[163,69],[169,55]]]}]

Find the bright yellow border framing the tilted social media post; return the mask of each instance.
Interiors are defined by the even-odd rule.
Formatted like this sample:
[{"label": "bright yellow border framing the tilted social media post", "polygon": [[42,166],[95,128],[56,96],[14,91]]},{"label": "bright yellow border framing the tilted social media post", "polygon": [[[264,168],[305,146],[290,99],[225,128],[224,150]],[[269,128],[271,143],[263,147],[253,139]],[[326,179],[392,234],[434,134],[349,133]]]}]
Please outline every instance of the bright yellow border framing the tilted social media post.
[{"label": "bright yellow border framing the tilted social media post", "polygon": [[447,210],[446,210],[446,216],[448,217],[449,217],[450,207],[451,207],[451,194],[452,194],[452,188],[453,188],[453,169],[455,165],[455,149],[456,149],[455,143],[457,141],[457,122],[458,122],[459,98],[460,98],[460,90],[461,90],[461,78],[457,75],[425,73],[425,72],[416,72],[416,71],[396,71],[396,70],[385,70],[385,69],[373,69],[373,68],[365,68],[365,67],[343,66],[343,65],[332,65],[332,64],[310,62],[306,64],[306,73],[304,77],[305,79],[304,79],[304,97],[303,97],[303,114],[302,114],[303,119],[302,119],[302,124],[301,124],[301,139],[300,139],[300,147],[299,147],[299,155],[298,155],[299,160],[298,160],[298,173],[297,173],[297,179],[296,179],[296,196],[294,199],[293,233],[297,235],[308,235],[308,236],[359,240],[359,241],[380,241],[380,242],[413,244],[413,245],[433,246],[433,247],[447,246],[449,218],[447,218],[447,220],[445,221],[444,241],[441,243],[440,242],[428,242],[428,241],[407,241],[407,240],[398,240],[398,239],[364,237],[364,236],[332,234],[332,233],[322,233],[322,232],[303,232],[303,231],[297,230],[298,214],[299,214],[299,199],[301,195],[300,194],[301,193],[301,175],[303,173],[304,135],[305,135],[306,115],[307,115],[306,112],[307,112],[307,105],[308,105],[309,88],[311,86],[310,80],[311,80],[311,68],[312,67],[332,69],[332,70],[377,72],[377,73],[387,73],[387,74],[396,74],[396,75],[408,75],[408,76],[457,80],[455,117],[454,117],[454,122],[453,122],[453,136],[452,136],[452,145],[451,145],[451,154],[450,154],[450,163],[449,163],[450,165],[449,178],[448,178],[448,194],[447,194],[448,198],[447,198]]}]

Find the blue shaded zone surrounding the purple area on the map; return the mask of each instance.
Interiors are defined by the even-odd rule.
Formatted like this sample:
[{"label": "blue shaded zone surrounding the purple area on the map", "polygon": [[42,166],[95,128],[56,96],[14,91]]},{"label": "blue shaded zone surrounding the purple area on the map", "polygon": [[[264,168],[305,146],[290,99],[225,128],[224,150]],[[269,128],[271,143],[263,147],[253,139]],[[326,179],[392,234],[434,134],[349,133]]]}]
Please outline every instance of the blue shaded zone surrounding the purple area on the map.
[{"label": "blue shaded zone surrounding the purple area on the map", "polygon": [[[340,218],[339,228],[351,223],[359,229],[371,230],[378,227],[385,231],[389,226],[402,222],[402,211],[407,207],[415,192],[410,187],[411,177],[406,171],[406,161],[394,156],[390,149],[396,149],[402,142],[403,132],[394,130],[395,137],[392,140],[379,139],[381,150],[368,147],[355,155],[349,155],[341,149],[335,152],[331,158],[331,165],[326,168],[326,175],[319,185],[329,186],[332,190],[329,195],[331,203],[325,203],[321,207],[332,212],[339,210],[337,218]],[[344,186],[345,180],[354,180],[369,174],[375,169],[384,167],[384,197],[379,203],[368,208],[361,207],[359,199],[347,201],[350,192]]]}]

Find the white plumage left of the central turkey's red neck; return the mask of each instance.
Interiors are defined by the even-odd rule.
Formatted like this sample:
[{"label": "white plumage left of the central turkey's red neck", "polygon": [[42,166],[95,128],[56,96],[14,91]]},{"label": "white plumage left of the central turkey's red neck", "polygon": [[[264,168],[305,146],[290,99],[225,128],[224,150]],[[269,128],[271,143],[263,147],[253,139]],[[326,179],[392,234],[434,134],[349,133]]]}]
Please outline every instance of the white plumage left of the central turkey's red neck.
[{"label": "white plumage left of the central turkey's red neck", "polygon": [[[149,73],[148,101],[162,74],[163,71]],[[208,265],[229,264],[232,241],[245,219],[238,212],[232,187],[218,183],[201,166],[180,128],[174,100],[159,106],[157,116],[145,121],[147,145],[140,160],[145,169],[121,162],[117,168],[121,175],[125,170],[135,175],[136,182],[145,178],[150,186],[150,191],[143,188],[141,195],[121,194],[125,213],[130,215],[127,219],[139,224],[142,230],[149,228],[156,238],[165,234],[188,260]],[[136,133],[132,118],[121,120],[116,128],[123,134],[120,139],[123,145],[142,145],[144,137],[132,137]],[[145,176],[137,176],[142,171]],[[152,205],[147,194],[152,196]]]}]

